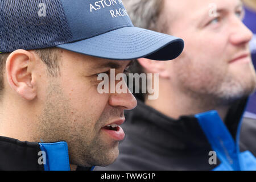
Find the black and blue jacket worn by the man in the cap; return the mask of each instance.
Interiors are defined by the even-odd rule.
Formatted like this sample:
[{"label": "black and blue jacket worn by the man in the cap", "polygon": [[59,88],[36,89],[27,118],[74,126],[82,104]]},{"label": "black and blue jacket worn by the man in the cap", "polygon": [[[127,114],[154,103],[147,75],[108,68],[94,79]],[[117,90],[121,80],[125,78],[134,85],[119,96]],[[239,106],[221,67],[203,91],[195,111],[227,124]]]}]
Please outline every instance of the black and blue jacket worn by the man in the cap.
[{"label": "black and blue jacket worn by the man in the cap", "polygon": [[[78,167],[77,170],[93,168]],[[36,143],[0,137],[0,170],[69,171],[67,142]]]}]

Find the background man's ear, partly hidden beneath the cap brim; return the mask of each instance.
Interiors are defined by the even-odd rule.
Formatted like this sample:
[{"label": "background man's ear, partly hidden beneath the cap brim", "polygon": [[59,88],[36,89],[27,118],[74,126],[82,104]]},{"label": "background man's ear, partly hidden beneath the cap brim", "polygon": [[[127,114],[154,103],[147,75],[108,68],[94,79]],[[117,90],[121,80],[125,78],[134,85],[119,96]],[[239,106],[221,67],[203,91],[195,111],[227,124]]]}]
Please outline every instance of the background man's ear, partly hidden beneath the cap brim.
[{"label": "background man's ear, partly hidden beneath the cap brim", "polygon": [[159,76],[162,78],[169,78],[167,61],[155,61],[146,58],[139,58],[139,64],[142,65],[150,73],[159,73]]}]

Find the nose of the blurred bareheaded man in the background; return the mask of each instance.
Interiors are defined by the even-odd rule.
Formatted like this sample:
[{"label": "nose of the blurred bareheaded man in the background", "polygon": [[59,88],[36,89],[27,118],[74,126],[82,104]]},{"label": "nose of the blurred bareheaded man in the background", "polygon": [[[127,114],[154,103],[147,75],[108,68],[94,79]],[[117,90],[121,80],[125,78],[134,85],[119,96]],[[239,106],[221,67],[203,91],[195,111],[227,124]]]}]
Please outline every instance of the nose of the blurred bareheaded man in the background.
[{"label": "nose of the blurred bareheaded man in the background", "polygon": [[253,33],[243,24],[243,22],[236,18],[233,20],[232,34],[230,35],[230,42],[235,46],[247,44],[253,38]]}]

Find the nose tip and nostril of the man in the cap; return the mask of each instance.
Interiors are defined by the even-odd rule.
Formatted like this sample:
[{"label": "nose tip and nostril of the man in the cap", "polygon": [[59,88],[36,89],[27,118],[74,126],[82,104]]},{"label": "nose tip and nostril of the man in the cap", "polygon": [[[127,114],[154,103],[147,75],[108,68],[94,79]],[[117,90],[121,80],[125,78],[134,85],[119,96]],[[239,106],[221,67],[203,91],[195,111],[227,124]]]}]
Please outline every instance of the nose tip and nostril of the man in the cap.
[{"label": "nose tip and nostril of the man in the cap", "polygon": [[127,93],[112,93],[109,97],[109,105],[121,106],[124,107],[125,110],[131,110],[137,106],[137,100],[127,88]]}]

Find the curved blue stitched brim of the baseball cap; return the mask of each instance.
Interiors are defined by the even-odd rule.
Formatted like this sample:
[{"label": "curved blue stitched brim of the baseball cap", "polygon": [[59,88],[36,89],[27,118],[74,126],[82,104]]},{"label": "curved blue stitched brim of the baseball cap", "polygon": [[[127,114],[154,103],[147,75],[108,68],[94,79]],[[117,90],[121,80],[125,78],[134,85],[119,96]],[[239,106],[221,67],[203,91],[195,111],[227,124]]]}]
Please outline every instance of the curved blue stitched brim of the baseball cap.
[{"label": "curved blue stitched brim of the baseball cap", "polygon": [[183,51],[184,42],[180,38],[159,32],[124,27],[57,47],[111,60],[133,60],[140,57],[172,60]]}]

